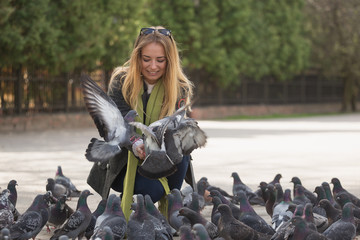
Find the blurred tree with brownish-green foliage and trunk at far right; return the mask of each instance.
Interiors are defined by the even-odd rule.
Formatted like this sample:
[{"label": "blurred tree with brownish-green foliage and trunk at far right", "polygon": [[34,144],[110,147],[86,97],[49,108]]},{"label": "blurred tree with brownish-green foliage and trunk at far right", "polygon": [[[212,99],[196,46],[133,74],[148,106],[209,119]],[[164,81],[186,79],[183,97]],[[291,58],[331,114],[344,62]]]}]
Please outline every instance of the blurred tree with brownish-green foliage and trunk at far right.
[{"label": "blurred tree with brownish-green foliage and trunk at far right", "polygon": [[342,111],[355,111],[360,87],[360,3],[307,1],[312,64],[328,79],[343,82]]}]

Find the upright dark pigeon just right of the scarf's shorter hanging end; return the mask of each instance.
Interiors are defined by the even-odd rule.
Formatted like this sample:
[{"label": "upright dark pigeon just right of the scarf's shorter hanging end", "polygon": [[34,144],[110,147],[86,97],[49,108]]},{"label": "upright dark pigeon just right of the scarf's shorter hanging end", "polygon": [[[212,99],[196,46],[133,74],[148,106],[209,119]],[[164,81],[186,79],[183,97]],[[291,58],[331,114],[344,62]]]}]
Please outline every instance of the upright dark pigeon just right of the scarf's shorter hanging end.
[{"label": "upright dark pigeon just right of the scarf's shorter hanging end", "polygon": [[168,200],[168,221],[171,227],[179,232],[180,227],[183,225],[183,216],[179,215],[180,208],[183,207],[181,193],[179,189],[174,188],[171,193],[166,196]]}]

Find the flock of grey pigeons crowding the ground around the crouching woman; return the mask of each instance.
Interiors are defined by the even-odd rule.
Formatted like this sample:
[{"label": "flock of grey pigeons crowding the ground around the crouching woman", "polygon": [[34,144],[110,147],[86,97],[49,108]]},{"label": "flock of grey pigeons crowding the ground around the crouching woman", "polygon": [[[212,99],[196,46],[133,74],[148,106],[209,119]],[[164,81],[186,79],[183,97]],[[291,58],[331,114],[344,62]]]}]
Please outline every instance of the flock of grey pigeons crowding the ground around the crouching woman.
[{"label": "flock of grey pigeons crowding the ground around the crouching woman", "polygon": [[[360,231],[360,199],[345,190],[338,178],[307,190],[298,177],[293,189],[282,189],[281,174],[251,190],[236,172],[232,194],[210,185],[206,177],[190,186],[173,189],[166,196],[167,216],[160,213],[148,195],[134,195],[133,210],[126,221],[121,198],[111,194],[91,212],[89,190],[79,191],[64,176],[61,166],[48,179],[46,192],[37,195],[24,213],[16,210],[16,180],[0,196],[0,240],[35,239],[46,227],[53,239],[355,239]],[[67,205],[78,197],[76,209]],[[253,208],[263,206],[271,223]],[[210,216],[203,214],[211,208]],[[55,230],[51,230],[55,228]]]}]

